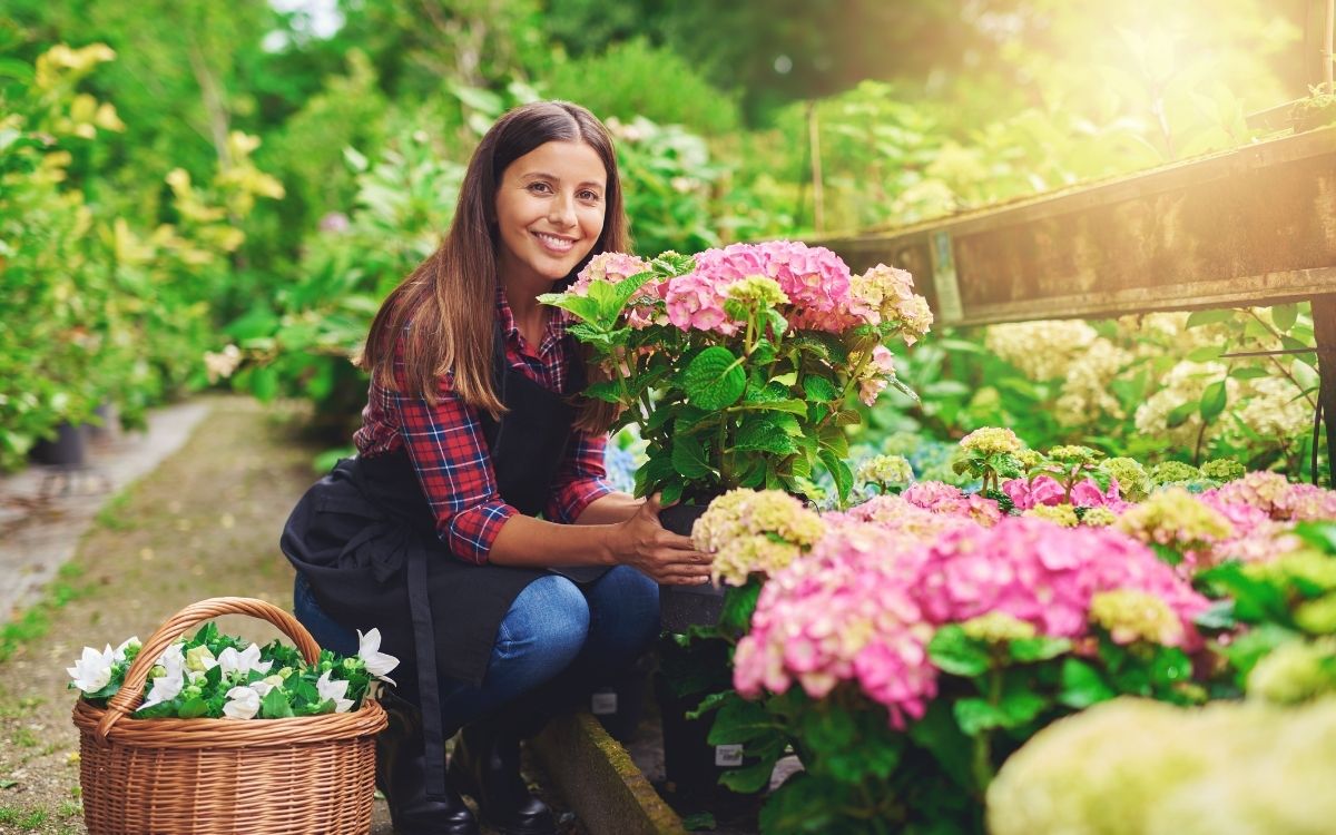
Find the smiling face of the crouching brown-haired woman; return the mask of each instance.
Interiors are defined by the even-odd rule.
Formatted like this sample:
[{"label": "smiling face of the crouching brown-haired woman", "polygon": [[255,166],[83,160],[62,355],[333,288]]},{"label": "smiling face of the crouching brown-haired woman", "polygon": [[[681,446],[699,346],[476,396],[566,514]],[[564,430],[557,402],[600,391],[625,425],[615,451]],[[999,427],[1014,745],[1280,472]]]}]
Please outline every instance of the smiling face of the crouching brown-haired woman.
[{"label": "smiling face of the crouching brown-haired woman", "polygon": [[603,160],[582,142],[549,142],[501,172],[497,269],[506,283],[561,281],[599,235],[608,190]]}]

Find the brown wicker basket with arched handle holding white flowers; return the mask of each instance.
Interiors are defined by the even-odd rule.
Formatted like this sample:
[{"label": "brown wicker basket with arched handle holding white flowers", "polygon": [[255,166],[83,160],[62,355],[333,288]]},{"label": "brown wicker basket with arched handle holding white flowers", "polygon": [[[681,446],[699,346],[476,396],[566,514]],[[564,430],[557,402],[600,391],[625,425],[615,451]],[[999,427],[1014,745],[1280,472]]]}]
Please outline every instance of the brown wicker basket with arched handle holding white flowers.
[{"label": "brown wicker basket with arched handle holding white flowers", "polygon": [[126,719],[148,672],[191,627],[250,615],[282,629],[306,657],[319,647],[263,600],[215,597],[186,607],[144,643],[107,708],[75,705],[90,835],[366,835],[375,792],[375,733],[385,711],[291,719]]}]

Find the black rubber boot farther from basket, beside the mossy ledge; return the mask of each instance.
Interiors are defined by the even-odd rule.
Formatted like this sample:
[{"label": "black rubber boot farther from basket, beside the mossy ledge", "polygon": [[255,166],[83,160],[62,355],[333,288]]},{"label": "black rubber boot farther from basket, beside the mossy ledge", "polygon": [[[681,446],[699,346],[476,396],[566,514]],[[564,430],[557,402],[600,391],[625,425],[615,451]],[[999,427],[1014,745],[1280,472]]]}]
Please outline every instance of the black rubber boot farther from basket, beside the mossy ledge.
[{"label": "black rubber boot farther from basket, beside the mossy ledge", "polygon": [[556,835],[548,806],[520,776],[520,737],[526,728],[505,715],[464,728],[450,758],[450,782],[473,795],[482,820],[502,835]]}]

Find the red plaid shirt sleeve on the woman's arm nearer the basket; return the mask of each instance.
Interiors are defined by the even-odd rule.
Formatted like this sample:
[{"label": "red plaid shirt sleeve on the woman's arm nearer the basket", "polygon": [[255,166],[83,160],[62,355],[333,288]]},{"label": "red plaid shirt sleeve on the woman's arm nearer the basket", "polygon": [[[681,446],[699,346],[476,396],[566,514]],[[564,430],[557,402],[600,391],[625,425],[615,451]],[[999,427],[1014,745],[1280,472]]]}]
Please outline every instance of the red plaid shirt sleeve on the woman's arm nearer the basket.
[{"label": "red plaid shirt sleeve on the woman's arm nearer the basket", "polygon": [[437,402],[402,394],[402,365],[394,365],[398,391],[390,393],[399,413],[399,433],[418,482],[436,516],[436,533],[456,557],[484,565],[506,520],[518,513],[497,490],[486,438],[476,410],[441,379]]}]

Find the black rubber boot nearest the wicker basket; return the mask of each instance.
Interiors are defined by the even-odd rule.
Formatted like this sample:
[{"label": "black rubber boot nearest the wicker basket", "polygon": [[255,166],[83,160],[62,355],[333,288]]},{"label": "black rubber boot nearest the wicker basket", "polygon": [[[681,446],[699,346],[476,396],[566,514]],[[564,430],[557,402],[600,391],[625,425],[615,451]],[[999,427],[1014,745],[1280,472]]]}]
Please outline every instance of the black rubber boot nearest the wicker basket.
[{"label": "black rubber boot nearest the wicker basket", "polygon": [[375,787],[385,792],[398,835],[480,835],[464,798],[446,782],[445,798],[426,796],[422,712],[394,693],[381,695],[390,725],[375,737]]}]

